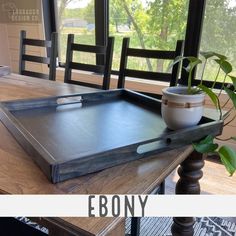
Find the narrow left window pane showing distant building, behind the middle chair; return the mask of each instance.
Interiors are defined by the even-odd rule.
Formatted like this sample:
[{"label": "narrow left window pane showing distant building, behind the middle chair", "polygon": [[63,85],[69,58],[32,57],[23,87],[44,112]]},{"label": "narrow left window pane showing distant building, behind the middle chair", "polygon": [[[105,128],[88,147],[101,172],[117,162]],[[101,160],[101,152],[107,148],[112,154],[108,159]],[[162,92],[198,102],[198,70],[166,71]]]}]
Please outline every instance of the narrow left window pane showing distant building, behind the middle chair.
[{"label": "narrow left window pane showing distant building, behind the middle chair", "polygon": [[[75,34],[75,42],[95,44],[94,0],[57,0],[60,61],[65,62],[67,35]],[[93,63],[91,55],[81,56],[84,63]],[[74,60],[79,60],[75,55]]]}]

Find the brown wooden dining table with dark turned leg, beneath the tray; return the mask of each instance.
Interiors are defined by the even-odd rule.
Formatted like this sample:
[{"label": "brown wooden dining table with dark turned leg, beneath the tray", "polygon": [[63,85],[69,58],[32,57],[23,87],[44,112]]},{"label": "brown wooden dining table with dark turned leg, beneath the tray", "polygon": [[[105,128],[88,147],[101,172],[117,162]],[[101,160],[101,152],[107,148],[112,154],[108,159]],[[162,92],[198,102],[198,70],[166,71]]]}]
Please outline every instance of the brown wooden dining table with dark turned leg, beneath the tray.
[{"label": "brown wooden dining table with dark turned leg, beneath the tray", "polygon": [[[0,101],[93,92],[16,74],[0,77]],[[7,194],[149,194],[179,164],[176,193],[199,194],[202,156],[191,146],[52,184],[0,123],[0,192]],[[122,218],[41,218],[51,235],[124,235]],[[192,235],[193,218],[174,218],[173,235]]]}]

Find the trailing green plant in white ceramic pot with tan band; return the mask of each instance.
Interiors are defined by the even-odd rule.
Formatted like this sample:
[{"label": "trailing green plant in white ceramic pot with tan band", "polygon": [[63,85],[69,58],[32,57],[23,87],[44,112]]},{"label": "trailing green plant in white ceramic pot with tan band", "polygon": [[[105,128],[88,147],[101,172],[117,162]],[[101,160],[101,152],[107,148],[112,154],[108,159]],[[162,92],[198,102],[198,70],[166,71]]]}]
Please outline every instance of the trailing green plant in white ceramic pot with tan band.
[{"label": "trailing green plant in white ceramic pot with tan band", "polygon": [[[214,103],[216,109],[219,111],[219,119],[223,119],[222,109],[225,109],[226,104],[231,101],[233,106],[228,112],[235,112],[236,109],[236,77],[231,75],[232,65],[227,60],[227,57],[215,52],[201,52],[204,60],[197,57],[176,57],[170,67],[183,60],[187,60],[187,66],[184,69],[188,72],[188,84],[186,86],[169,87],[162,90],[162,117],[167,124],[167,127],[173,130],[182,129],[197,125],[203,115],[205,95],[208,95]],[[213,85],[208,88],[203,85],[204,72],[207,62],[212,59],[218,64],[218,71],[215,76]],[[192,86],[192,73],[197,65],[203,64],[201,79],[198,86]],[[222,87],[218,92],[215,92],[214,86],[219,79],[220,71],[224,73]],[[230,78],[232,83],[226,83],[226,79]],[[228,87],[231,86],[231,88]],[[228,95],[228,100],[221,105],[219,97],[222,91]],[[233,119],[235,116],[233,116]],[[233,120],[232,119],[232,120]],[[232,121],[231,120],[231,121]],[[229,122],[227,122],[228,124]],[[236,137],[230,139],[236,140]],[[225,165],[230,175],[236,170],[236,150],[229,146],[223,145],[219,147],[214,143],[214,137],[207,136],[205,139],[194,143],[193,147],[200,153],[215,153],[220,156],[222,163]]]}]

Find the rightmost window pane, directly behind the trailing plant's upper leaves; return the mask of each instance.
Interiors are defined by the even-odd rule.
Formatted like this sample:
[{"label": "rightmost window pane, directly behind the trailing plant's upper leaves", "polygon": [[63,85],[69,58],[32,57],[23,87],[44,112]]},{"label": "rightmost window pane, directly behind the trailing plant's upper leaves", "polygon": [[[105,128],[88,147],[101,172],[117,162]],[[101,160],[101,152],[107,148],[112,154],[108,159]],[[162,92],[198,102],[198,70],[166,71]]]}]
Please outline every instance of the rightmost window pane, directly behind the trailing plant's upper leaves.
[{"label": "rightmost window pane, directly behind the trailing plant's upper leaves", "polygon": [[[214,51],[228,57],[236,67],[236,1],[208,0],[203,23],[200,51]],[[198,68],[197,78],[201,75]],[[207,63],[204,80],[212,81],[216,77],[218,66],[211,61]],[[236,75],[236,74],[234,74]],[[224,80],[220,73],[219,82]]]}]

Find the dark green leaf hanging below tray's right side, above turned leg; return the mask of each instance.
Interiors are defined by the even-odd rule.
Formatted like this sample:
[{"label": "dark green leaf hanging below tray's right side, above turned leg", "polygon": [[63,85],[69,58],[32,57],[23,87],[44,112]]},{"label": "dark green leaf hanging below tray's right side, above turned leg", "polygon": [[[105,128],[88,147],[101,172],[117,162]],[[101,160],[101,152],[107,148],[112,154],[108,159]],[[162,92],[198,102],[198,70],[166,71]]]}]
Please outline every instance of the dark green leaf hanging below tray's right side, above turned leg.
[{"label": "dark green leaf hanging below tray's right side, above turned leg", "polygon": [[214,138],[208,135],[205,139],[199,143],[193,143],[193,147],[197,152],[209,153],[214,152],[218,148],[218,144],[213,143]]}]

